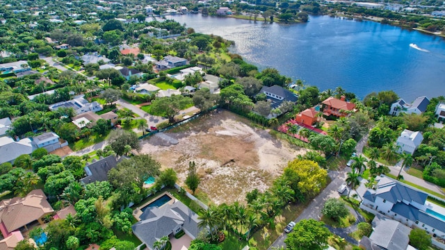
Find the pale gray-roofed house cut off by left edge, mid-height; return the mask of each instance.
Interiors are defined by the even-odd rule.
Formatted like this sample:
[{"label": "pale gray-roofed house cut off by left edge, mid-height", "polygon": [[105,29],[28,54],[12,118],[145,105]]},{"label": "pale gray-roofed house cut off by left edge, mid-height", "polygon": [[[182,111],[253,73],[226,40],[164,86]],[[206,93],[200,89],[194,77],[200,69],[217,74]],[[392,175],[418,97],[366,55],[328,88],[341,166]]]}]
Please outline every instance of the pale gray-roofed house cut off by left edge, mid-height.
[{"label": "pale gray-roofed house cut off by left edge, mid-height", "polygon": [[14,163],[15,158],[22,154],[31,154],[35,147],[31,139],[24,138],[16,142],[13,138],[3,136],[0,138],[0,164]]}]

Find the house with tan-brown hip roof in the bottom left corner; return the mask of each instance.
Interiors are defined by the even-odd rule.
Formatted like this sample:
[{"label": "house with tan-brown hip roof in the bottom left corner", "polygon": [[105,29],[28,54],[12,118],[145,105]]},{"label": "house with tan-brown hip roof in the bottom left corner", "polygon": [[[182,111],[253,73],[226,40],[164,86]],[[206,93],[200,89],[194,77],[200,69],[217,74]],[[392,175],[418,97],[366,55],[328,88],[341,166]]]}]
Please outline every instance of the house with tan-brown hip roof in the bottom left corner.
[{"label": "house with tan-brown hip roof in the bottom left corner", "polygon": [[13,231],[28,230],[28,226],[38,221],[44,224],[43,217],[54,213],[47,196],[40,189],[33,190],[26,197],[15,197],[0,201],[0,231],[6,238]]}]

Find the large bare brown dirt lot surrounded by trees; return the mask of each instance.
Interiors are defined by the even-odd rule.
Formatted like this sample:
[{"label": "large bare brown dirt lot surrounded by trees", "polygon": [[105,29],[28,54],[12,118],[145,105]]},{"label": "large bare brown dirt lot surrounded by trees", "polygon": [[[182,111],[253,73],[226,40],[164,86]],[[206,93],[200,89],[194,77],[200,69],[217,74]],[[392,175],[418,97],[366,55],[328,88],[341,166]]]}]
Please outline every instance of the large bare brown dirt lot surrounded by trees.
[{"label": "large bare brown dirt lot surrounded by trees", "polygon": [[163,168],[174,168],[183,186],[188,163],[194,160],[202,177],[198,190],[213,203],[244,202],[246,192],[266,190],[289,160],[305,153],[248,124],[243,117],[220,111],[166,133],[178,144],[152,137],[142,142],[140,153],[152,154]]}]

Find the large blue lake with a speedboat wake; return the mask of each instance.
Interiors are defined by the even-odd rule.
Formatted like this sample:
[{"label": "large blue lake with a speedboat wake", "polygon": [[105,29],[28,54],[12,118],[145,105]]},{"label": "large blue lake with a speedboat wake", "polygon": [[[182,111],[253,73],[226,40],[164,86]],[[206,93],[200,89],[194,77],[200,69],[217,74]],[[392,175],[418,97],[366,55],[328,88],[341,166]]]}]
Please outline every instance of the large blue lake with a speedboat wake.
[{"label": "large blue lake with a speedboat wake", "polygon": [[435,35],[329,16],[291,25],[200,14],[168,18],[233,40],[230,51],[248,63],[275,67],[321,91],[341,86],[363,98],[394,90],[408,102],[445,95],[445,39]]}]

